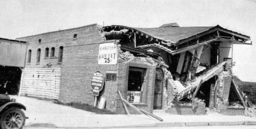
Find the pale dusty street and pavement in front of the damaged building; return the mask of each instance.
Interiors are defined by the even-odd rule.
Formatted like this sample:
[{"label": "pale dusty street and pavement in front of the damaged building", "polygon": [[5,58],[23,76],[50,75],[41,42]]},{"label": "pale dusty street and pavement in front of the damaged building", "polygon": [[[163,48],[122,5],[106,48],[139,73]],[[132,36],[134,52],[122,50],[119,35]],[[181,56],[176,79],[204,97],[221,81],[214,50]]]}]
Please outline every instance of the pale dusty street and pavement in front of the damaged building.
[{"label": "pale dusty street and pavement in front of the damaged building", "polygon": [[[91,112],[74,109],[70,106],[55,104],[52,101],[38,100],[30,97],[18,97],[17,102],[23,103],[27,107],[25,115],[25,127],[170,127],[170,126],[195,126],[195,125],[238,125],[245,124],[246,121],[256,123],[255,118],[245,116],[225,116],[221,114],[208,115],[170,115],[163,112],[154,114],[164,121],[145,115],[100,115]],[[248,122],[247,122],[248,123]],[[31,127],[29,127],[31,126]],[[208,126],[207,126],[208,127]],[[238,126],[240,127],[240,126]]]}]

